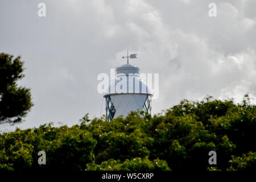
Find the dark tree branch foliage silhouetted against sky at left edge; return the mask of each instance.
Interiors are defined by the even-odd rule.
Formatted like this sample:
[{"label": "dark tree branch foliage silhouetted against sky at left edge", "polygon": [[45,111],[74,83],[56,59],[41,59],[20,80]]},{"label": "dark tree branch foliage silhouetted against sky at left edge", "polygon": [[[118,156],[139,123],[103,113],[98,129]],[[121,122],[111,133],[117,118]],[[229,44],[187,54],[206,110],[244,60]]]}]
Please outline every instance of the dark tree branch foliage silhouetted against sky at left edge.
[{"label": "dark tree branch foliage silhouetted against sky at left edge", "polygon": [[30,89],[17,85],[24,77],[20,56],[0,53],[0,124],[19,123],[32,107]]}]

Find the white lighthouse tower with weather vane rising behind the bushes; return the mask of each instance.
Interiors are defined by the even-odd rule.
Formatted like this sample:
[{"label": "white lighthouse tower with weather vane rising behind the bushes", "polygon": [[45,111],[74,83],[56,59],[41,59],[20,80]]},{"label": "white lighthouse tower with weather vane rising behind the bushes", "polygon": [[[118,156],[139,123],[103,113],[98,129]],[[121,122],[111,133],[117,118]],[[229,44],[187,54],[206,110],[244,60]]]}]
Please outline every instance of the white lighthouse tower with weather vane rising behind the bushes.
[{"label": "white lighthouse tower with weather vane rising behind the bushes", "polygon": [[143,110],[151,113],[151,90],[139,76],[140,69],[129,64],[129,58],[137,58],[127,51],[127,64],[115,68],[115,78],[110,81],[106,99],[106,117],[109,121],[119,115],[126,117],[131,111]]}]

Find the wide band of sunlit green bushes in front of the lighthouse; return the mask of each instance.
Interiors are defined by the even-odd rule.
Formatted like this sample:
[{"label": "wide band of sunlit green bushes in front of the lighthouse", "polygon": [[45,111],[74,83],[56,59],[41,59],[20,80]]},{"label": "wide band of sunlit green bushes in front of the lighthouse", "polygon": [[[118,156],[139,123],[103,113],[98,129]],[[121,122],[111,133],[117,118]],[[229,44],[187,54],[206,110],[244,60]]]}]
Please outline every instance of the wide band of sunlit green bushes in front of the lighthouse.
[{"label": "wide band of sunlit green bushes in front of the lighthouse", "polygon": [[[241,104],[183,100],[154,117],[131,112],[109,122],[87,114],[72,127],[50,123],[1,134],[0,169],[255,170],[255,118],[247,95]],[[38,164],[39,151],[46,165]],[[216,166],[209,151],[217,152]]]}]

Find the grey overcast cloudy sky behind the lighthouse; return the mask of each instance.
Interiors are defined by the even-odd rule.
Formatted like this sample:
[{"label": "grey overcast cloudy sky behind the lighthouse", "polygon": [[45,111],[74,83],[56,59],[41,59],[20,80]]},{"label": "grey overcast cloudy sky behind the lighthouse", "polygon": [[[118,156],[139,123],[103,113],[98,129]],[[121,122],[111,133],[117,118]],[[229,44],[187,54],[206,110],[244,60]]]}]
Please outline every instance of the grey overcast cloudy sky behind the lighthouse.
[{"label": "grey overcast cloudy sky behind the lighthouse", "polygon": [[[46,17],[38,16],[40,2]],[[25,122],[0,130],[100,117],[97,76],[125,64],[127,48],[141,72],[159,73],[153,114],[184,98],[256,99],[255,8],[255,0],[1,0],[0,52],[22,56],[19,84],[31,88],[34,107]]]}]

